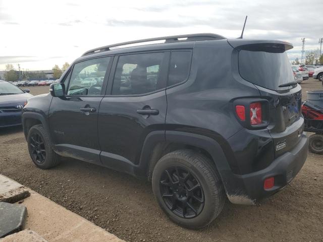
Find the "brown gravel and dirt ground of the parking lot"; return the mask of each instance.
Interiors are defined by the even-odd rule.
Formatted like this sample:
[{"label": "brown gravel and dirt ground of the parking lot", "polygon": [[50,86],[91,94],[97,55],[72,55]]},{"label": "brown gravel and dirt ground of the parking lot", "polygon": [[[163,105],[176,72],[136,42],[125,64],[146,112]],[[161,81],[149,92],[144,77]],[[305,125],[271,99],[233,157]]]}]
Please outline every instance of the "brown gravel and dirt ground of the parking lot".
[{"label": "brown gravel and dirt ground of the parking lot", "polygon": [[[322,89],[310,78],[306,90]],[[48,87],[30,88],[32,94]],[[259,206],[229,202],[202,230],[172,223],[144,180],[73,159],[36,168],[21,128],[0,130],[0,173],[127,241],[323,241],[323,156],[309,154],[291,185]]]}]

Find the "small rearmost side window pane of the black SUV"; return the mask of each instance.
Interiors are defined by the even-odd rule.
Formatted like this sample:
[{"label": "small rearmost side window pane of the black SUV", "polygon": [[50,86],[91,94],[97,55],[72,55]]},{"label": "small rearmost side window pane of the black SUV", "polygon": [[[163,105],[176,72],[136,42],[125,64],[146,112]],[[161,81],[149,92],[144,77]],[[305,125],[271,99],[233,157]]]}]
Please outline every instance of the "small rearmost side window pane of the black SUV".
[{"label": "small rearmost side window pane of the black SUV", "polygon": [[168,86],[187,80],[191,66],[191,51],[172,51]]}]

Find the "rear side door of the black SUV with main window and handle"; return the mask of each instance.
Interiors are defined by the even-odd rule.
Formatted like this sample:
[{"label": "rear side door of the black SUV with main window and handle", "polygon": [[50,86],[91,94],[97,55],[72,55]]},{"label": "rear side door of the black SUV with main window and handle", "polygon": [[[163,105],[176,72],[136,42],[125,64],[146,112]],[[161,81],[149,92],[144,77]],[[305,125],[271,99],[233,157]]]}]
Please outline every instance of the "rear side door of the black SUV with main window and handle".
[{"label": "rear side door of the black SUV with main window and handle", "polygon": [[126,167],[139,162],[147,134],[165,130],[169,56],[159,51],[115,57],[98,117],[104,166],[129,171]]}]

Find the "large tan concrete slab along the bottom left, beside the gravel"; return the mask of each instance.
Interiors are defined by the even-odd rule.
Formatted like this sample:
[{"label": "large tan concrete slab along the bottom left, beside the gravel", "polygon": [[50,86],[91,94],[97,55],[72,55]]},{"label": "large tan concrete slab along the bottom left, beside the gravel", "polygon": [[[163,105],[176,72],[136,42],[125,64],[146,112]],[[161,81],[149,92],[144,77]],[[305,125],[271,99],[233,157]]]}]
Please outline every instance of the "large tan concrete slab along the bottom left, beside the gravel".
[{"label": "large tan concrete slab along the bottom left, beside the gravel", "polygon": [[[26,228],[36,231],[50,242],[121,242],[115,235],[85,218],[30,191],[22,205],[28,210]],[[2,241],[1,241],[2,242]]]}]

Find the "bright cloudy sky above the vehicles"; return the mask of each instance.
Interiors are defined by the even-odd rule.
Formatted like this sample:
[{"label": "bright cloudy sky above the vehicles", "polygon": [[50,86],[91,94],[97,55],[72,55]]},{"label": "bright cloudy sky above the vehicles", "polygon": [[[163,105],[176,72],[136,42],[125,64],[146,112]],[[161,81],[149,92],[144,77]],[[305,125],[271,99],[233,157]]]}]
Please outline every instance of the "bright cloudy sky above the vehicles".
[{"label": "bright cloudy sky above the vehicles", "polygon": [[0,70],[50,70],[86,50],[158,36],[216,33],[227,38],[279,39],[290,59],[319,47],[323,0],[0,0]]}]

